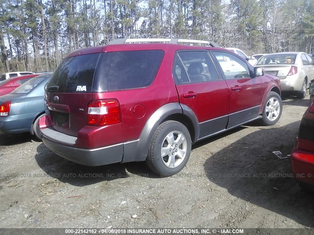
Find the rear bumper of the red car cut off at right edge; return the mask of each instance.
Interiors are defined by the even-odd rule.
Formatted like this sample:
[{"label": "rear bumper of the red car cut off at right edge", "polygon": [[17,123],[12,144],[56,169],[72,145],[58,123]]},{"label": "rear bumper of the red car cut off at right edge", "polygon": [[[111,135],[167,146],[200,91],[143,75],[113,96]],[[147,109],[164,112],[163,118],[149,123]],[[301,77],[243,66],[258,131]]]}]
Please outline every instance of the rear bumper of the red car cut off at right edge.
[{"label": "rear bumper of the red car cut off at right edge", "polygon": [[314,153],[296,149],[291,153],[291,166],[294,178],[314,185]]}]

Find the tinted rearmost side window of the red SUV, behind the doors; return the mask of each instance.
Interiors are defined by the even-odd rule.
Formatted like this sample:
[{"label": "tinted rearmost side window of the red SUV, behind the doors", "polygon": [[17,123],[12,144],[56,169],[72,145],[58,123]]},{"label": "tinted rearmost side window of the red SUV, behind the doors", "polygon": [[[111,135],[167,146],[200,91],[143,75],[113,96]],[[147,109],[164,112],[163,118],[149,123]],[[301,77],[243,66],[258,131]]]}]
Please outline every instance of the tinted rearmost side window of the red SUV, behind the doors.
[{"label": "tinted rearmost side window of the red SUV, behind the doors", "polygon": [[102,92],[147,87],[153,83],[163,55],[163,50],[103,53],[97,66],[93,90]]}]

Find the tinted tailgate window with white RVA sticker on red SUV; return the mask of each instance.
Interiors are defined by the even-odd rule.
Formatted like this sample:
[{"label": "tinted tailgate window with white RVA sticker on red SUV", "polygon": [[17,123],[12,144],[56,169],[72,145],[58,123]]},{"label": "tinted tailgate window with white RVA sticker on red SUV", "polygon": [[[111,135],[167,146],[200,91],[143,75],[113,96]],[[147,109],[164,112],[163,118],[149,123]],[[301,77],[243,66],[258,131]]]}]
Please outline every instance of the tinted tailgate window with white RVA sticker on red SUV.
[{"label": "tinted tailgate window with white RVA sticker on red SUV", "polygon": [[47,84],[57,92],[91,92],[100,53],[66,58],[54,71]]}]

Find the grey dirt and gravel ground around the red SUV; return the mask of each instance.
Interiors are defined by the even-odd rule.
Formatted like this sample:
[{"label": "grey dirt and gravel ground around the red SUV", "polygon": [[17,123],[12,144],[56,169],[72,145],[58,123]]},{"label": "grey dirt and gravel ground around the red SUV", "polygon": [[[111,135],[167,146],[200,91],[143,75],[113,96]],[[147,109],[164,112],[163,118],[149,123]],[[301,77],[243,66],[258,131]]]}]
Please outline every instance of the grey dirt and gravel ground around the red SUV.
[{"label": "grey dirt and gravel ground around the red SUV", "polygon": [[30,135],[0,137],[0,228],[314,228],[313,194],[291,178],[308,104],[286,98],[280,121],[251,123],[192,146],[178,175],[145,163],[87,167]]}]

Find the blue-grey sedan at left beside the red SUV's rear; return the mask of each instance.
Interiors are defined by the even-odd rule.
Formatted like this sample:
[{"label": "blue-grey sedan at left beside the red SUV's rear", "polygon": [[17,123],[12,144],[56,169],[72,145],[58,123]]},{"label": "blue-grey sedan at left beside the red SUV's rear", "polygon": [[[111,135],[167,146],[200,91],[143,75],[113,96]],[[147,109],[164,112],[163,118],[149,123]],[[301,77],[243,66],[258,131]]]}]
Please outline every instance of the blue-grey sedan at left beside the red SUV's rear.
[{"label": "blue-grey sedan at left beside the red SUV's rear", "polygon": [[36,76],[10,94],[0,96],[0,133],[30,132],[40,139],[38,121],[45,113],[44,86],[52,73]]}]

